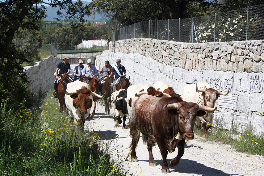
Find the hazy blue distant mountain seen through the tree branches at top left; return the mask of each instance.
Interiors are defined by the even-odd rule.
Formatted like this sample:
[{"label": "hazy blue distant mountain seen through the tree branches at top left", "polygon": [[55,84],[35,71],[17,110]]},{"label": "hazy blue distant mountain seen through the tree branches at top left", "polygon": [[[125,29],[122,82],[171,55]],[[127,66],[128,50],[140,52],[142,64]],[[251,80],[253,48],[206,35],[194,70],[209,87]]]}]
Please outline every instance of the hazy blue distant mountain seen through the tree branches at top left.
[{"label": "hazy blue distant mountain seen through the tree branches at top left", "polygon": [[[82,2],[83,2],[83,5],[90,4],[90,2],[87,2],[87,1],[82,1]],[[52,8],[51,6],[47,6],[46,15],[48,15],[48,16],[44,20],[47,20],[47,21],[56,21],[57,11],[59,9],[60,9],[59,7]],[[61,11],[62,11],[63,14],[65,14],[65,10],[61,10]],[[62,18],[62,19],[65,19],[65,18]],[[94,15],[91,15],[91,16],[87,16],[86,15],[84,17],[84,19],[86,19],[88,21],[102,21],[103,17],[99,13],[96,13],[95,16]]]}]

